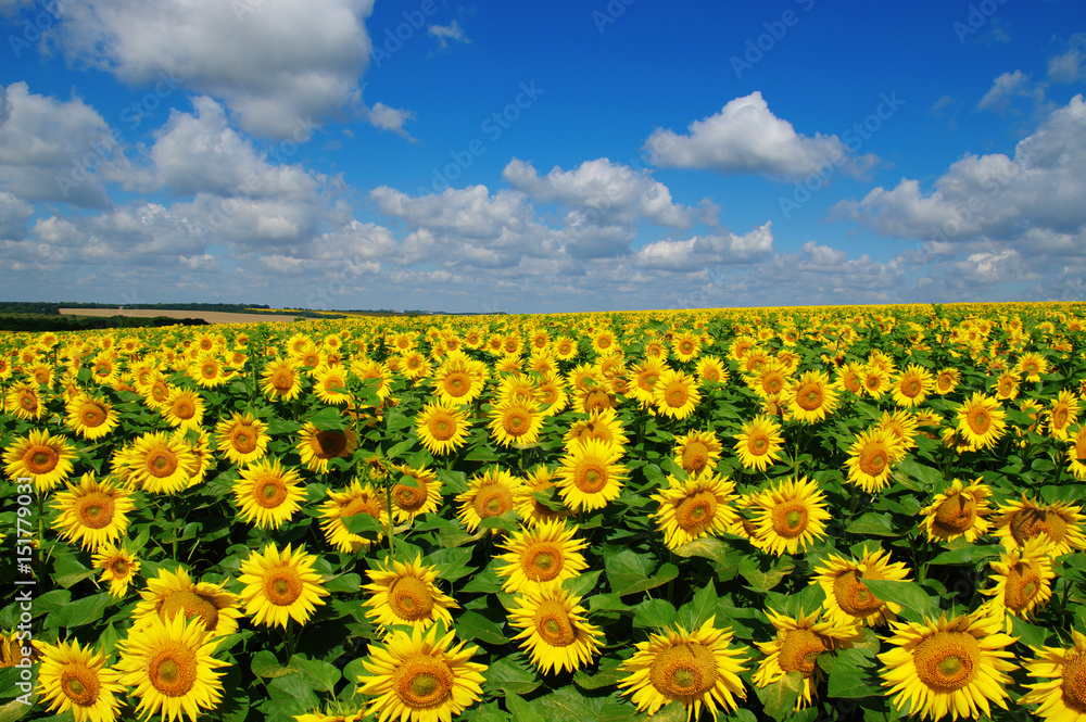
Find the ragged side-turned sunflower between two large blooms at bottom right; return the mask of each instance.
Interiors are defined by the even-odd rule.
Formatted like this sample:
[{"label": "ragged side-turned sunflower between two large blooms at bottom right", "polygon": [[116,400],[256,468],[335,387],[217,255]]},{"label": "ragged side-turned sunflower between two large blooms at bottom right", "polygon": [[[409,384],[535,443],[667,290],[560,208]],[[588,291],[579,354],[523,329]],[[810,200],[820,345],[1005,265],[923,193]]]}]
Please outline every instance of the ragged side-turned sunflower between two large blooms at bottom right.
[{"label": "ragged side-turned sunflower between two large blooms at bottom right", "polygon": [[810,615],[800,611],[797,617],[788,617],[766,609],[766,616],[776,629],[776,638],[757,643],[766,658],[750,679],[759,687],[765,687],[790,672],[798,672],[804,677],[804,689],[796,699],[797,710],[818,697],[818,685],[823,677],[822,668],[817,662],[819,655],[850,647],[859,633],[855,624],[817,621],[820,611],[816,609]]}]

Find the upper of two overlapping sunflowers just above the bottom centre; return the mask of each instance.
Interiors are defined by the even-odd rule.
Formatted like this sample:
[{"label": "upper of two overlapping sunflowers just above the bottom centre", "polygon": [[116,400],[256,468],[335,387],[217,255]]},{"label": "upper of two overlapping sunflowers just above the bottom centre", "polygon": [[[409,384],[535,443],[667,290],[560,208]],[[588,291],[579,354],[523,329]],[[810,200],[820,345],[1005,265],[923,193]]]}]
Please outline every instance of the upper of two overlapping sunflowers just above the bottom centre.
[{"label": "upper of two overlapping sunflowers just above the bottom centre", "polygon": [[584,540],[574,540],[577,528],[569,528],[561,519],[544,521],[521,529],[500,546],[506,554],[497,558],[507,562],[497,568],[505,578],[502,588],[509,593],[539,590],[551,582],[561,584],[589,568],[581,549]]}]

